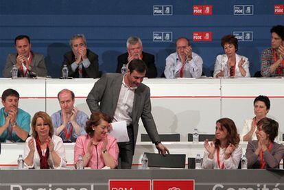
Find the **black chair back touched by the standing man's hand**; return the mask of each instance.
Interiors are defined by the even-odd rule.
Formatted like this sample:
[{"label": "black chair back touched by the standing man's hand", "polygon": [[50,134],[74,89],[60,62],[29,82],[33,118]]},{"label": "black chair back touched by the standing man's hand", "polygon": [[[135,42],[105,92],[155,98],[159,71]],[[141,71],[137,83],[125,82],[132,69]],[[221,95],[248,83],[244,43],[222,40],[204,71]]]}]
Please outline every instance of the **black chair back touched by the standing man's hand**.
[{"label": "black chair back touched by the standing man's hand", "polygon": [[185,168],[185,154],[156,154],[145,152],[148,158],[148,167]]}]

